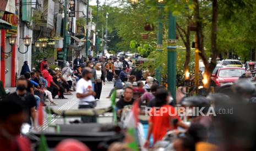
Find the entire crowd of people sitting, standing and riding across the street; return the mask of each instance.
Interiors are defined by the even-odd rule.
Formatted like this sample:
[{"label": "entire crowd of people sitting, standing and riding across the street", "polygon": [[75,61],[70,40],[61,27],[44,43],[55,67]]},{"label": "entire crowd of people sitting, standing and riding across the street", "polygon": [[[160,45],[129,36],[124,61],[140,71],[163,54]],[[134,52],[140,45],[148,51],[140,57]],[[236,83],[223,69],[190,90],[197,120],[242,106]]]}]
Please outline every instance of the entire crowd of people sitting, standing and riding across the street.
[{"label": "entire crowd of people sitting, standing and riding across the street", "polygon": [[[72,63],[72,62],[71,62]],[[24,62],[17,81],[17,91],[0,101],[0,150],[30,150],[29,141],[18,137],[23,123],[35,126],[35,117],[40,103],[56,106],[55,98],[66,99],[65,95],[75,95],[79,100],[79,109],[95,108],[101,99],[102,86],[113,83],[108,98],[114,91],[120,90],[116,102],[116,113],[121,119],[126,106],[139,101],[138,111],[146,113],[145,108],[156,109],[156,114],[149,116],[148,133],[144,144],[140,147],[150,148],[166,137],[168,131],[175,130],[177,138],[172,142],[173,148],[179,150],[253,150],[256,136],[254,122],[256,111],[255,86],[241,77],[229,88],[219,89],[216,94],[190,96],[186,94],[186,86],[177,89],[176,102],[164,86],[156,82],[149,72],[143,72],[137,63],[125,57],[88,57],[77,56],[73,65],[66,62],[61,68],[51,69],[47,58],[44,58],[38,69],[31,71],[28,62]],[[179,91],[183,92],[179,96]],[[185,91],[185,92],[184,92]],[[188,116],[190,124],[180,115],[163,112],[167,108],[171,113],[181,106],[203,108],[207,113],[210,108],[215,112],[230,109],[232,114],[217,116]],[[222,110],[220,110],[222,109]],[[227,111],[227,110],[225,110]],[[218,114],[218,113],[217,113]],[[159,116],[161,115],[161,116]],[[248,118],[246,118],[248,117]],[[96,123],[96,117],[81,117],[82,123]],[[246,129],[244,129],[246,125]],[[182,130],[178,130],[182,128]],[[152,136],[152,142],[150,142]],[[126,140],[126,139],[125,139]],[[242,143],[240,143],[242,142]],[[126,141],[114,142],[109,150],[127,149]],[[118,147],[117,147],[118,146]]]}]

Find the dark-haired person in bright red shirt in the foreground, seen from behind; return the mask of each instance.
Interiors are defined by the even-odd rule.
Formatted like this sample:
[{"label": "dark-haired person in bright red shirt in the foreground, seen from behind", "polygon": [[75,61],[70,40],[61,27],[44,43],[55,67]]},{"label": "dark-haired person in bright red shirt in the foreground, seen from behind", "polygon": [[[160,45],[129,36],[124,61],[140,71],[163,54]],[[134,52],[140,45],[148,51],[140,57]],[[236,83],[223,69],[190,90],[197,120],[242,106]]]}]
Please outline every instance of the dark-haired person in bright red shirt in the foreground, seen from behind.
[{"label": "dark-haired person in bright red shirt in the foreground, seen from behind", "polygon": [[[167,131],[177,129],[181,126],[188,129],[188,125],[184,124],[178,117],[177,111],[173,106],[168,105],[168,91],[164,88],[158,89],[155,95],[155,107],[151,108],[148,135],[146,137],[145,147],[149,147],[149,140],[152,133],[154,144],[162,140]],[[167,112],[164,112],[167,111]],[[175,121],[175,124],[173,121]]]}]

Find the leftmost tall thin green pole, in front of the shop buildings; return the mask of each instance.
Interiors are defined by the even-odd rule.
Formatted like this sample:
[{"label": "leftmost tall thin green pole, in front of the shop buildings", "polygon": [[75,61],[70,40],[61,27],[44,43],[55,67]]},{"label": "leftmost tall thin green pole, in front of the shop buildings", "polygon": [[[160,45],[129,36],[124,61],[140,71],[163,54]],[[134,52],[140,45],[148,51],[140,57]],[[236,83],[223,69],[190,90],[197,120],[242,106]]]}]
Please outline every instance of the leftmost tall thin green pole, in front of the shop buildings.
[{"label": "leftmost tall thin green pole, in front of the shop buildings", "polygon": [[[66,63],[67,60],[67,5],[68,5],[68,0],[65,0],[64,2],[64,25],[63,25],[63,37],[64,37],[64,42],[63,42],[63,63]],[[63,64],[64,65],[64,64]]]}]

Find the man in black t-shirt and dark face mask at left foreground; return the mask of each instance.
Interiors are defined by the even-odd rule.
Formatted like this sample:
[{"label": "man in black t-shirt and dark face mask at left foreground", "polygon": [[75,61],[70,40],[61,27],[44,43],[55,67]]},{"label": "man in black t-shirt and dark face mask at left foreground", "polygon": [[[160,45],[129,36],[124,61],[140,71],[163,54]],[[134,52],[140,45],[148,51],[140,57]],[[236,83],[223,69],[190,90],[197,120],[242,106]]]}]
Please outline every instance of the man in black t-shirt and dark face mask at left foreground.
[{"label": "man in black t-shirt and dark face mask at left foreground", "polygon": [[[17,81],[17,91],[13,92],[12,94],[8,95],[6,99],[13,100],[22,104],[25,109],[27,118],[25,123],[35,125],[35,117],[36,117],[36,100],[35,97],[29,94],[26,91],[28,86],[28,81],[25,77],[21,76]],[[32,121],[31,121],[32,118]]]}]

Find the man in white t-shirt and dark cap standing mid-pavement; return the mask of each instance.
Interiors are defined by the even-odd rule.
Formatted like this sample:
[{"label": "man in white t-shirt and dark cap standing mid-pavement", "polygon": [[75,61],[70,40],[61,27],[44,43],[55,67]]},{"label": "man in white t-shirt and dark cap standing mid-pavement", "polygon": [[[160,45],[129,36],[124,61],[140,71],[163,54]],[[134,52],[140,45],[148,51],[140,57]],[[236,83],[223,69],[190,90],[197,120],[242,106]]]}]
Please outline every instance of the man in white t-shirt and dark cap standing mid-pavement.
[{"label": "man in white t-shirt and dark cap standing mid-pavement", "polygon": [[[91,79],[93,77],[92,69],[89,67],[85,67],[82,71],[82,76],[76,86],[76,95],[79,99],[79,109],[83,108],[95,108],[96,101],[95,96],[96,93],[92,88]],[[83,123],[96,123],[96,117],[81,117],[81,121]]]}]

